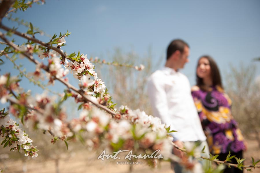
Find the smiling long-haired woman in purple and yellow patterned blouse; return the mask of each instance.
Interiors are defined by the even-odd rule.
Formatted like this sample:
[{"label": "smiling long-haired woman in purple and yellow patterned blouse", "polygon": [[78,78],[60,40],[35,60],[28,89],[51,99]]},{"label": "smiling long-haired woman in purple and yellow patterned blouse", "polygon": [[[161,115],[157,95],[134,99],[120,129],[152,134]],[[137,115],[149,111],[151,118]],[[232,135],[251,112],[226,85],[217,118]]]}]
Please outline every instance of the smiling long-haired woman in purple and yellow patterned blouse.
[{"label": "smiling long-haired woman in purple and yellow patterned blouse", "polygon": [[[196,86],[192,87],[192,96],[211,154],[218,154],[218,159],[222,161],[226,160],[229,152],[237,158],[242,158],[242,151],[246,150],[244,138],[231,114],[231,99],[223,90],[218,66],[208,55],[198,60],[196,83]],[[232,163],[237,163],[235,158]],[[224,172],[243,171],[231,167]]]}]

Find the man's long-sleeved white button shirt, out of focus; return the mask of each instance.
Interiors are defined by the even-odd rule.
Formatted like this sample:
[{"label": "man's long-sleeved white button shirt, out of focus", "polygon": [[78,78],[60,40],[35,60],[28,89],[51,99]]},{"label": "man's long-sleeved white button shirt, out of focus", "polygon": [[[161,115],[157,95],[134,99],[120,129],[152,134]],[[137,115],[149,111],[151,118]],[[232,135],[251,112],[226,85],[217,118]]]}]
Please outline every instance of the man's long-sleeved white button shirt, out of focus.
[{"label": "man's long-sleeved white button shirt, out of focus", "polygon": [[148,95],[153,116],[178,131],[172,133],[174,140],[206,140],[185,75],[168,67],[155,71],[148,79]]}]

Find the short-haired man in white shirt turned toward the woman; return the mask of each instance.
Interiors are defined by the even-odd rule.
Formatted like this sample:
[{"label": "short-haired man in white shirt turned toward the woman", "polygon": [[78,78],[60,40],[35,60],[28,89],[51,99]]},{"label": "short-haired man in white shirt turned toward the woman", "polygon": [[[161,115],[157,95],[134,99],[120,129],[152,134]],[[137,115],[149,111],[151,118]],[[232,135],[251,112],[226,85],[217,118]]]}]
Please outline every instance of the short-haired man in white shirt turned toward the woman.
[{"label": "short-haired man in white shirt turned toward the woman", "polygon": [[[189,62],[189,45],[183,40],[173,40],[167,49],[166,64],[155,71],[148,79],[148,95],[153,115],[161,118],[162,123],[170,125],[173,142],[183,148],[185,143],[201,142],[201,149],[208,152],[199,116],[191,95],[189,80],[179,72]],[[173,153],[183,158],[183,152],[174,147]],[[206,154],[207,156],[207,154]],[[185,172],[178,163],[172,163],[176,173]]]}]

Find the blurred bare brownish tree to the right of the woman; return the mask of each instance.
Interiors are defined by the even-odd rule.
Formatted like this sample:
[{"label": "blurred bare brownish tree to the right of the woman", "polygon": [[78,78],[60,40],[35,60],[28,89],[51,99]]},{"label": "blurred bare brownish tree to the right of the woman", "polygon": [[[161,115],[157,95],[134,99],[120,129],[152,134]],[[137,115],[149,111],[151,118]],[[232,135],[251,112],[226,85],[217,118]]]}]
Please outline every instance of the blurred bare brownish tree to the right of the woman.
[{"label": "blurred bare brownish tree to the right of the woman", "polygon": [[256,78],[256,67],[241,64],[240,68],[230,68],[226,92],[233,101],[233,116],[244,135],[256,139],[260,148],[260,80]]}]

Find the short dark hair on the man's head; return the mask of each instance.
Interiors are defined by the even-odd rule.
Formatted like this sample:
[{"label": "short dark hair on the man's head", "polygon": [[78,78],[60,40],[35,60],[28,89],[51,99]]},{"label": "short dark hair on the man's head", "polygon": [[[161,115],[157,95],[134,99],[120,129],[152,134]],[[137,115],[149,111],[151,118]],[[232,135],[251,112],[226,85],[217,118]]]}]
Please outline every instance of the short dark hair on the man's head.
[{"label": "short dark hair on the man's head", "polygon": [[176,39],[173,40],[167,49],[167,59],[170,58],[170,56],[175,52],[175,51],[180,51],[181,53],[183,53],[184,51],[184,47],[187,46],[188,48],[190,48],[190,46],[183,40],[181,39]]}]

